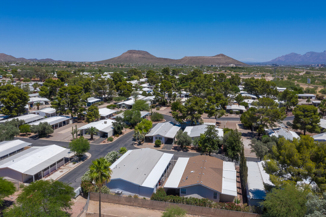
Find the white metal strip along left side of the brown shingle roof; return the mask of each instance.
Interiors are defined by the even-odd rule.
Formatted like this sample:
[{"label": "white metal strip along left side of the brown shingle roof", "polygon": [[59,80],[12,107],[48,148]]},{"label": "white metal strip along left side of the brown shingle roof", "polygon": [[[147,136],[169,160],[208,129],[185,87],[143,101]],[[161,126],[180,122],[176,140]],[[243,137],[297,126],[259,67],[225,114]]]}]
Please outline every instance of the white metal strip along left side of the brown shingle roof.
[{"label": "white metal strip along left side of the brown shingle roof", "polygon": [[179,157],[175,163],[168,180],[164,184],[164,188],[178,188],[181,177],[187,166],[189,157]]}]

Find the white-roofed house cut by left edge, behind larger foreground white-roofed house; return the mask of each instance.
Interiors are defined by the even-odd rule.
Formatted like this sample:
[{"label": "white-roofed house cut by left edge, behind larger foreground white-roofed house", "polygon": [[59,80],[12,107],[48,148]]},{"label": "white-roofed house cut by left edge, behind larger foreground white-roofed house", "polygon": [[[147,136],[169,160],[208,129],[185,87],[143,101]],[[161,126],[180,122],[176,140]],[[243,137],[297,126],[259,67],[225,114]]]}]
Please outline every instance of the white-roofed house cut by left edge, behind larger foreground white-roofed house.
[{"label": "white-roofed house cut by left edge, behind larger foreground white-roofed house", "polygon": [[32,143],[22,140],[12,140],[0,142],[0,161],[14,154],[22,152],[32,146]]}]

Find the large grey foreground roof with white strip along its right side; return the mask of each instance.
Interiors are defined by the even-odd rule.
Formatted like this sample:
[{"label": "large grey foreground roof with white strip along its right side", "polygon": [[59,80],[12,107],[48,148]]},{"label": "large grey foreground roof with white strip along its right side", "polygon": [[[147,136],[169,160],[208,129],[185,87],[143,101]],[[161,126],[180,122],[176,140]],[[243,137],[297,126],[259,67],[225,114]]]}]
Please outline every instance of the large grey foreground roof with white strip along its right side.
[{"label": "large grey foreground roof with white strip along its right side", "polygon": [[[164,156],[163,156],[164,155]],[[154,149],[144,148],[130,150],[122,155],[123,158],[111,165],[111,180],[121,179],[140,186],[153,188],[157,183],[162,170],[168,166],[173,154],[166,155]],[[170,160],[167,160],[170,157]],[[156,170],[152,172],[153,170]],[[159,175],[157,175],[160,173]],[[157,177],[158,176],[158,177]]]}]

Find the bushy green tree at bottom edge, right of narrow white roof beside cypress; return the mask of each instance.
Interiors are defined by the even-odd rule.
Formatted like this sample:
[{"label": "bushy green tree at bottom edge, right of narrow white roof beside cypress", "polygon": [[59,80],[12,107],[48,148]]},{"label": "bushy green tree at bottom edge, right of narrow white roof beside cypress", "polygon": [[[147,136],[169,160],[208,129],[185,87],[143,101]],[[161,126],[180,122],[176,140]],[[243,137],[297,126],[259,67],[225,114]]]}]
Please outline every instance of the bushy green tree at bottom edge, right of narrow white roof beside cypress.
[{"label": "bushy green tree at bottom edge, right of narrow white roof beside cypress", "polygon": [[261,204],[264,207],[263,216],[266,217],[300,217],[304,216],[307,208],[306,195],[308,190],[295,185],[284,185],[282,188],[273,188],[265,196]]}]

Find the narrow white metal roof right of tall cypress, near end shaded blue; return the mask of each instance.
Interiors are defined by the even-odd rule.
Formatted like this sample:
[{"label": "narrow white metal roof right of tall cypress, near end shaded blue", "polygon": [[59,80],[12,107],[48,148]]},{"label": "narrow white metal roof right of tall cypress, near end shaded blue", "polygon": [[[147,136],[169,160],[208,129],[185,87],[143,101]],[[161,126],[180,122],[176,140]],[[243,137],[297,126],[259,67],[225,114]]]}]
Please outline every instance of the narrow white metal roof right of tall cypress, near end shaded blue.
[{"label": "narrow white metal roof right of tall cypress, near end shaded blue", "polygon": [[260,169],[257,162],[247,161],[248,166],[248,191],[250,199],[263,200],[266,195],[264,182],[260,173]]}]

